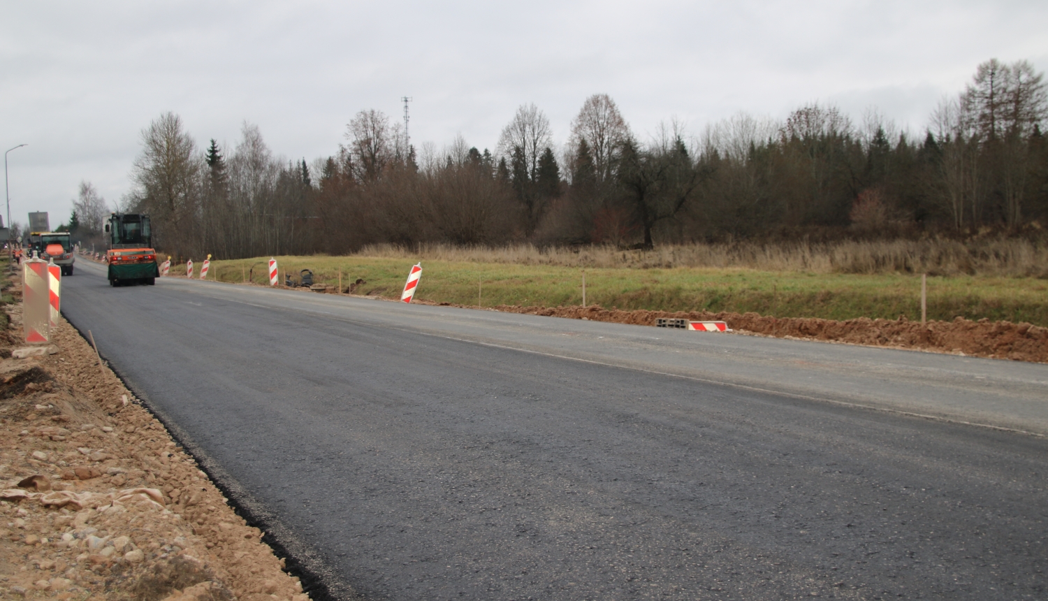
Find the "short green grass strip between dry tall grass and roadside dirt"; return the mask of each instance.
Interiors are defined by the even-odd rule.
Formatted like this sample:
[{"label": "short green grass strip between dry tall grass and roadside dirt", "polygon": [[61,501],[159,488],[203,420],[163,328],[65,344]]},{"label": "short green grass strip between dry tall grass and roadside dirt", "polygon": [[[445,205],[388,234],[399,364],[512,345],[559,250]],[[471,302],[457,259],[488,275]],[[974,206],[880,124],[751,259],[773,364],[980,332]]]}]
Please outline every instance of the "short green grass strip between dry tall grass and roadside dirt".
[{"label": "short green grass strip between dry tall grass and roadside dirt", "polygon": [[[384,257],[277,257],[284,274],[313,271],[318,283],[343,286],[363,279],[354,294],[399,297],[414,263]],[[199,270],[199,266],[197,266]],[[214,261],[209,279],[267,283],[266,259]],[[184,274],[181,265],[172,273]],[[199,274],[199,271],[197,272]],[[416,298],[466,305],[578,305],[583,270],[563,265],[423,260]],[[478,301],[478,284],[480,297]],[[927,317],[988,318],[1048,326],[1048,280],[1021,277],[929,277]],[[814,274],[745,269],[586,270],[586,302],[656,310],[755,312],[776,317],[857,317],[920,320],[920,276]]]}]

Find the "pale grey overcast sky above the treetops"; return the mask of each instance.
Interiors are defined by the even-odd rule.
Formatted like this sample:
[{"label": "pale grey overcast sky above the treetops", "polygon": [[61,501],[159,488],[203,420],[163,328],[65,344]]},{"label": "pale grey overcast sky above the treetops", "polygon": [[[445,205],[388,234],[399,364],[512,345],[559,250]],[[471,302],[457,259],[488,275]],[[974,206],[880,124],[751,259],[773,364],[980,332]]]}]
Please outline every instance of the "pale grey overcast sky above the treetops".
[{"label": "pale grey overcast sky above the treetops", "polygon": [[[166,111],[204,147],[244,121],[277,155],[337,151],[362,109],[412,142],[492,148],[536,103],[562,144],[605,92],[641,138],[677,117],[699,133],[746,111],[877,108],[920,132],[990,58],[1048,70],[1048,2],[4,2],[0,151],[10,212],[69,217],[81,180],[110,201],[139,135]],[[5,219],[6,222],[6,219]]]}]

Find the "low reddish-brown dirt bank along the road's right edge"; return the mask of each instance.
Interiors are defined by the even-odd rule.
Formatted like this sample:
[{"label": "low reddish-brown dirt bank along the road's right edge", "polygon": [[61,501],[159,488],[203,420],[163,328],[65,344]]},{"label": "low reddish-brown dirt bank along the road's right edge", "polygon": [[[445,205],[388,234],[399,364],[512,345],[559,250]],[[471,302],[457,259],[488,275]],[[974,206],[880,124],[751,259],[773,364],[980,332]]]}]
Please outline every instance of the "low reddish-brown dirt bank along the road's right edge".
[{"label": "low reddish-brown dirt bank along the road's right edge", "polygon": [[721,320],[735,330],[772,336],[917,348],[936,352],[963,353],[974,357],[1011,359],[1048,363],[1048,328],[1029,323],[957,318],[954,321],[931,321],[926,325],[905,319],[887,320],[858,318],[834,321],[813,318],[776,318],[756,313],[658,312],[607,309],[599,305],[539,307],[499,305],[495,310],[588,319],[635,325],[655,325],[660,317],[684,318],[694,321]]}]

